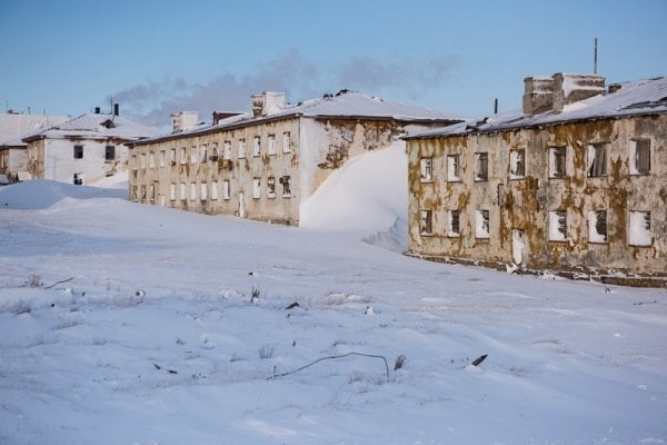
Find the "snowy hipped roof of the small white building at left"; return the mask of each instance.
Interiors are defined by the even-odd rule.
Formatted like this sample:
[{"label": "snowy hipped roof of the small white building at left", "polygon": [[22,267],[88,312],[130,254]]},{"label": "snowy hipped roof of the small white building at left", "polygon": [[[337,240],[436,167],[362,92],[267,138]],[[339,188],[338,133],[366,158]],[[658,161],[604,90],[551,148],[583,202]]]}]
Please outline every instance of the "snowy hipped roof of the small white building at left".
[{"label": "snowy hipped roof of the small white building at left", "polygon": [[137,123],[130,119],[115,115],[88,113],[79,116],[70,121],[57,125],[44,131],[23,138],[23,141],[49,138],[120,138],[120,139],[140,139],[158,136],[155,128]]}]

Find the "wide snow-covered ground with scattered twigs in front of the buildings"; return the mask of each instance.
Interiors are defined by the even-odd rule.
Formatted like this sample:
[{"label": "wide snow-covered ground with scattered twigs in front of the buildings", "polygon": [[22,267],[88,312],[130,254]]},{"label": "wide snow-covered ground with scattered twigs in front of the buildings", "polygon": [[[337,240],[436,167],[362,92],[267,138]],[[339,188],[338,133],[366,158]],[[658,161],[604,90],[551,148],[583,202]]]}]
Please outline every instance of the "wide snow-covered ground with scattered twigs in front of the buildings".
[{"label": "wide snow-covered ground with scattered twigs in front of the buildings", "polygon": [[126,196],[0,189],[0,443],[667,443],[664,289]]}]

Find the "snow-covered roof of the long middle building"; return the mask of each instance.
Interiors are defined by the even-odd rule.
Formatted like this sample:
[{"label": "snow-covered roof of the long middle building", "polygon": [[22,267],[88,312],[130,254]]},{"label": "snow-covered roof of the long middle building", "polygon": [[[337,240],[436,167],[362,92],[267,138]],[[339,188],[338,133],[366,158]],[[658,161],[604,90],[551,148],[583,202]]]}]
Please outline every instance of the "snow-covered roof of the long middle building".
[{"label": "snow-covered roof of the long middle building", "polygon": [[325,95],[318,99],[310,99],[298,103],[288,103],[283,106],[280,111],[270,115],[253,117],[252,113],[245,112],[221,119],[216,125],[198,125],[186,131],[156,138],[156,140],[243,125],[253,125],[265,120],[275,120],[293,116],[303,116],[308,118],[376,118],[402,121],[442,121],[447,123],[462,120],[460,117],[444,113],[428,107],[387,100],[377,96],[367,96],[350,90],[340,90],[336,95]]}]

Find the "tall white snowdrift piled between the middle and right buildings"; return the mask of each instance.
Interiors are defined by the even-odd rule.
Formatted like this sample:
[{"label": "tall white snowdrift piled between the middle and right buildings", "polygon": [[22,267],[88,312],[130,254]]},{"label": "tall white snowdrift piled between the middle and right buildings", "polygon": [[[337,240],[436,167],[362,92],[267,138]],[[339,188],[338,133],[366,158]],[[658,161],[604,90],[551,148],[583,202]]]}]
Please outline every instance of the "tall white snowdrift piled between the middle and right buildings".
[{"label": "tall white snowdrift piled between the middle and right buildings", "polygon": [[404,144],[348,160],[301,204],[299,225],[322,231],[385,231],[407,220],[408,159]]}]

